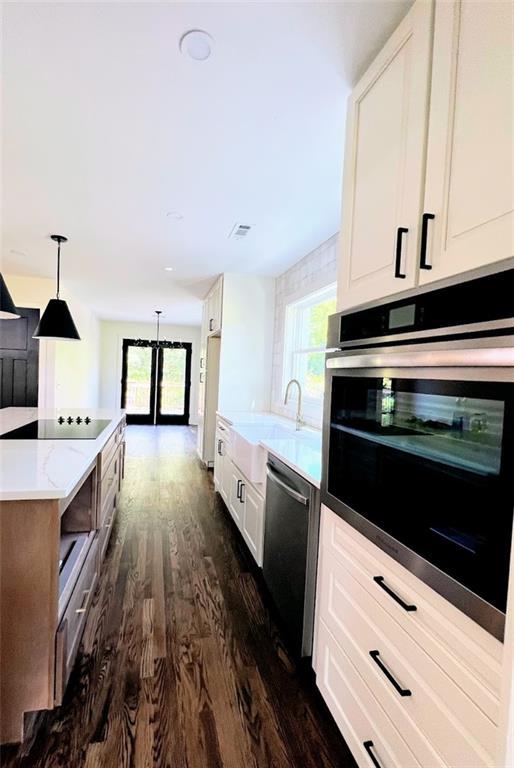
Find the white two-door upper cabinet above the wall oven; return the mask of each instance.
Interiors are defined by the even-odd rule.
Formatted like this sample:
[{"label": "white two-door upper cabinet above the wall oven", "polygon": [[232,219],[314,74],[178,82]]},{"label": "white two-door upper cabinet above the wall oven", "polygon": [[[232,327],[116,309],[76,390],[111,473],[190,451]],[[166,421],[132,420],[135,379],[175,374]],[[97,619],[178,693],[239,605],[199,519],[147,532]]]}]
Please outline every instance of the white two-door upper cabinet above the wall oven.
[{"label": "white two-door upper cabinet above the wall oven", "polygon": [[354,89],[339,309],[513,255],[512,23],[418,0]]}]

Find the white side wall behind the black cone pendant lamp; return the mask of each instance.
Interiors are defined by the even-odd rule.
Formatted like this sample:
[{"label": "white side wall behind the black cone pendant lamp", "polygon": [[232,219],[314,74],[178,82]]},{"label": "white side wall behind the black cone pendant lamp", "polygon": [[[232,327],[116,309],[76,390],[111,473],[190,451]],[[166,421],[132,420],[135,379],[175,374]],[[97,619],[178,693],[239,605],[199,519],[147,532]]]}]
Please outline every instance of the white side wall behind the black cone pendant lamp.
[{"label": "white side wall behind the black cone pendant lamp", "polygon": [[[4,275],[13,301],[40,309],[55,297],[55,281],[43,277]],[[39,406],[96,408],[99,399],[99,320],[62,283],[65,299],[81,336],[80,341],[39,342]]]}]

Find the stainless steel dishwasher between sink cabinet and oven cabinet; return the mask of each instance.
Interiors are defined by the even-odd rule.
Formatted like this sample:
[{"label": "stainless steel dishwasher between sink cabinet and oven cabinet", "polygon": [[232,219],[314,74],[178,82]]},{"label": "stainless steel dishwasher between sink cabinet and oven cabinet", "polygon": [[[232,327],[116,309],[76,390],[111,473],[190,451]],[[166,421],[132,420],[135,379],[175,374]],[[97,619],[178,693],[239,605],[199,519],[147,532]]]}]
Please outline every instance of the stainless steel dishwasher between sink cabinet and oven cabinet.
[{"label": "stainless steel dishwasher between sink cabinet and oven cabinet", "polygon": [[263,575],[295,656],[312,655],[319,491],[270,456]]}]

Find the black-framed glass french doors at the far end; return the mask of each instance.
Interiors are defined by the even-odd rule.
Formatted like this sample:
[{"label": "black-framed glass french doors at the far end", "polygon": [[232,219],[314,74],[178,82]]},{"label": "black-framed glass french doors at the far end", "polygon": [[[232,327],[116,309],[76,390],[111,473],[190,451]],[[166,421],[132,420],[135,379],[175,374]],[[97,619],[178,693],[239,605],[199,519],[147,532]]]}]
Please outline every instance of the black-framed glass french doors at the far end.
[{"label": "black-framed glass french doors at the far end", "polygon": [[188,424],[191,394],[189,343],[155,349],[150,341],[123,340],[121,407],[129,424]]}]

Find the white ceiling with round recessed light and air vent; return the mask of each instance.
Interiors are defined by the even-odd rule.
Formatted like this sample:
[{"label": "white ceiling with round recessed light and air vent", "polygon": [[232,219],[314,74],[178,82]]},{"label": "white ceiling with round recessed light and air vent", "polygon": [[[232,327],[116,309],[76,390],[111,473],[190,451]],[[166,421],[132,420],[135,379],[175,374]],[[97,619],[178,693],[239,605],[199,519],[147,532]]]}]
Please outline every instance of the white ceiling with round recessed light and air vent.
[{"label": "white ceiling with round recessed light and air vent", "polygon": [[338,229],[346,96],[410,4],[4,3],[4,271],[53,276],[62,233],[101,317],[168,323],[220,272],[280,274]]}]

